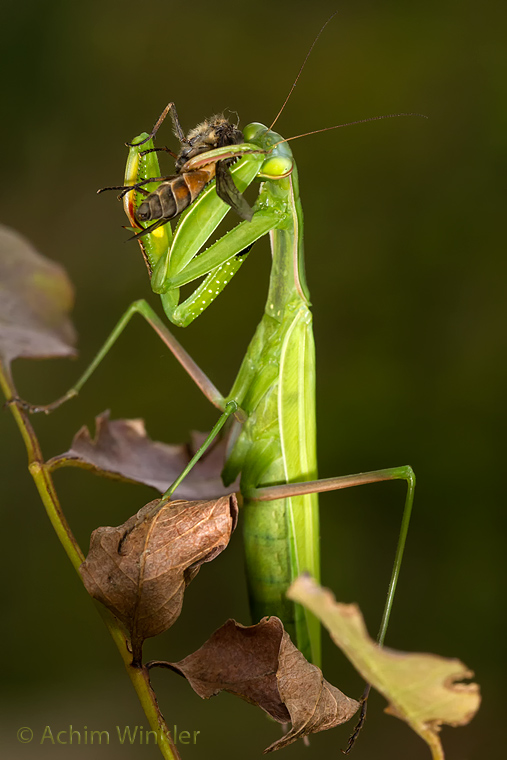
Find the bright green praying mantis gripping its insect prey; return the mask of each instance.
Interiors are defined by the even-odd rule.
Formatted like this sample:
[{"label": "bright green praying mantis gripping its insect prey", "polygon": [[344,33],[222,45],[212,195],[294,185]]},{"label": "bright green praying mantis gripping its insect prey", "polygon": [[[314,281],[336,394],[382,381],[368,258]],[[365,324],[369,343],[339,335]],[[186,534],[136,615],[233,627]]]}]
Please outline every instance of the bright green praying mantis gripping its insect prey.
[{"label": "bright green praying mantis gripping its insect prey", "polygon": [[[153,137],[167,113],[171,114],[182,145],[180,154],[173,154],[177,158],[178,181],[187,175],[195,179],[200,172],[208,172],[206,181],[202,180],[204,189],[196,193],[195,199],[191,198],[174,234],[166,222],[178,215],[179,209],[165,216],[159,212],[157,216],[148,208],[155,196],[162,197],[162,190],[164,193],[171,190],[166,185],[174,181],[174,177],[160,176],[153,146]],[[407,483],[400,536],[378,634],[382,644],[400,571],[415,477],[409,466],[403,466],[317,479],[315,351],[304,273],[303,214],[296,165],[288,140],[273,131],[274,122],[269,128],[254,122],[241,133],[223,117],[219,118],[234,131],[234,140],[231,138],[230,143],[220,147],[213,147],[220,145],[219,140],[211,140],[210,144],[192,150],[191,135],[198,133],[199,128],[185,137],[170,103],[150,134],[142,133],[128,143],[125,185],[117,189],[122,190],[125,210],[137,229],[151,287],[161,296],[168,319],[180,327],[188,326],[205,312],[242,266],[255,241],[269,234],[272,269],[265,311],[231,391],[222,395],[151,306],[139,300],[127,309],[75,386],[44,410],[49,411],[75,396],[131,317],[136,313],[143,316],[204,395],[222,412],[223,421],[232,413],[235,415],[233,445],[223,479],[227,485],[241,473],[246,570],[254,622],[264,615],[278,616],[305,657],[319,664],[319,623],[285,596],[292,580],[302,572],[319,579],[317,494],[383,480],[403,479]],[[209,127],[209,122],[205,125]],[[201,125],[199,134],[206,137],[205,126]],[[209,181],[213,176],[217,179]],[[250,209],[241,194],[255,179],[261,180],[261,186]],[[176,198],[177,193],[173,194]],[[243,221],[202,251],[231,207]],[[200,284],[180,303],[180,288],[199,279]]]}]

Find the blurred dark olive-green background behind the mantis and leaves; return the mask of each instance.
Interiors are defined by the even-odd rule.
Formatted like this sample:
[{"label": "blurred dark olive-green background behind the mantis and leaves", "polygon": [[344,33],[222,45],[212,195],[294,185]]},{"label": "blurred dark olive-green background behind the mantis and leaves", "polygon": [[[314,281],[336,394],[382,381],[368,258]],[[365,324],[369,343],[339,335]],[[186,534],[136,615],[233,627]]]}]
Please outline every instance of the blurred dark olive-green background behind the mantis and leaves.
[{"label": "blurred dark olive-green background behind the mantis and leaves", "polygon": [[[50,401],[77,377],[119,314],[150,297],[120,204],[95,195],[121,182],[125,140],[174,100],[185,128],[229,108],[269,122],[336,3],[248,7],[4,2],[2,221],[62,262],[76,284],[78,362],[18,363],[22,394]],[[457,656],[484,702],[473,723],[444,729],[449,758],[503,747],[506,14],[501,3],[344,2],[319,41],[278,128],[298,134],[377,114],[417,111],[293,144],[306,217],[318,352],[320,473],[410,463],[416,508],[388,643]],[[164,139],[171,140],[169,126]],[[266,244],[183,335],[227,389],[263,307]],[[152,298],[156,305],[156,298]],[[184,440],[216,414],[139,320],[77,401],[36,420],[44,451],[64,450],[110,408],[144,417],[150,434]],[[2,470],[2,743],[10,758],[157,757],[121,747],[115,726],[145,725],[121,662],[72,572],[25,469],[8,414]],[[58,473],[83,546],[97,525],[123,522],[153,493]],[[322,498],[323,580],[378,625],[403,503],[401,484]],[[247,622],[241,537],[190,587],[174,628],[147,645],[177,660],[227,617]],[[362,686],[325,636],[325,673]],[[260,756],[278,735],[260,711],[221,695],[202,702],[166,672],[154,677],[171,725],[200,731],[184,757]],[[374,696],[355,757],[427,758]],[[108,747],[40,745],[41,730],[109,730]],[[36,739],[16,741],[30,726]],[[336,756],[348,728],[291,757]]]}]

